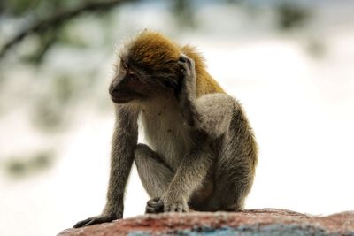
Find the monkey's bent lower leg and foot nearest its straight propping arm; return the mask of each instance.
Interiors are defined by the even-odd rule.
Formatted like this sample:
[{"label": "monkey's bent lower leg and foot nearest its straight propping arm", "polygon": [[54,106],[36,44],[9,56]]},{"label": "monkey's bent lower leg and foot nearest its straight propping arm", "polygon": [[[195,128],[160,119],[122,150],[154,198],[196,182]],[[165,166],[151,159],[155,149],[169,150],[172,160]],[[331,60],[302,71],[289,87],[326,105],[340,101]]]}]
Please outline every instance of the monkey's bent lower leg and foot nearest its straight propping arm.
[{"label": "monkey's bent lower leg and foot nearest its straight propping arm", "polygon": [[146,213],[163,212],[164,203],[160,198],[165,194],[174,172],[145,144],[138,144],[135,148],[135,165],[142,186],[151,198],[147,202]]}]

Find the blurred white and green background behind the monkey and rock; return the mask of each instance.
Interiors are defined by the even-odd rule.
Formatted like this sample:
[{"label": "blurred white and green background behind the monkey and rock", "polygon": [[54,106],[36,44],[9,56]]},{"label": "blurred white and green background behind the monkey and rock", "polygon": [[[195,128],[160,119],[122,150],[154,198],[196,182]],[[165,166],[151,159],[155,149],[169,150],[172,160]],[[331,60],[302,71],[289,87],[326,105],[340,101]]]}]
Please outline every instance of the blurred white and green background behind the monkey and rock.
[{"label": "blurred white and green background behind the monkey and rock", "polygon": [[[2,0],[0,235],[101,212],[114,51],[144,28],[195,45],[243,104],[259,145],[247,208],[354,209],[353,1]],[[147,200],[134,169],[125,217]]]}]

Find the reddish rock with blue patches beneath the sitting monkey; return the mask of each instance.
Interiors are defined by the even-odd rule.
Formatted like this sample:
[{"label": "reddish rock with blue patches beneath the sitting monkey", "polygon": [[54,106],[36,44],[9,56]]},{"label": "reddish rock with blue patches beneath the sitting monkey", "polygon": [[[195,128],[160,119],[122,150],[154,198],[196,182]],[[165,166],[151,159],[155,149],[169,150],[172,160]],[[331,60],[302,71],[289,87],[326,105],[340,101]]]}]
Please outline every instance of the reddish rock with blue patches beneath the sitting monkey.
[{"label": "reddish rock with blue patches beneath the sitting monkey", "polygon": [[67,229],[58,235],[140,236],[156,234],[354,236],[354,211],[327,217],[314,217],[286,209],[150,214],[79,229]]}]

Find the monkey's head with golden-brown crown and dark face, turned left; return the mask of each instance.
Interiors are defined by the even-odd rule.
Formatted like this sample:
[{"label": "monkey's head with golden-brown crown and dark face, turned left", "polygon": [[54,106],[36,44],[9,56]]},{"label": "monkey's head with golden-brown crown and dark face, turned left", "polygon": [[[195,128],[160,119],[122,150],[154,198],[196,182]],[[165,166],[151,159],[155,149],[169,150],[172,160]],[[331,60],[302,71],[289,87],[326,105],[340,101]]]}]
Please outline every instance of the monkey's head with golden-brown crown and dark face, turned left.
[{"label": "monkey's head with golden-brown crown and dark face, turned left", "polygon": [[114,103],[151,98],[179,88],[181,48],[159,33],[143,31],[119,53],[110,86]]}]

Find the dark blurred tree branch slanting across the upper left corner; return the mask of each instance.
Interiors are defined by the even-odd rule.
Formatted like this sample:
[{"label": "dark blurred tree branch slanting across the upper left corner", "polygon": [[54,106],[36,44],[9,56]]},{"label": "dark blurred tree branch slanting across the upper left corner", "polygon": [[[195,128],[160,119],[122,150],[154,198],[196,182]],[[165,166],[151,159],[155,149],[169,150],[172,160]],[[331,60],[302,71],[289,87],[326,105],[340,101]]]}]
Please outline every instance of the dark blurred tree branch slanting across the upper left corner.
[{"label": "dark blurred tree branch slanting across the upper left corner", "polygon": [[112,6],[117,4],[122,4],[125,2],[133,2],[134,0],[105,0],[95,3],[84,4],[76,9],[60,12],[56,15],[51,16],[48,19],[42,19],[36,22],[33,26],[27,27],[26,29],[15,35],[12,40],[6,42],[4,47],[0,50],[0,58],[4,57],[6,52],[12,48],[12,46],[21,42],[30,34],[42,34],[49,29],[58,28],[70,19],[80,16],[84,12],[89,11],[106,11]]}]

